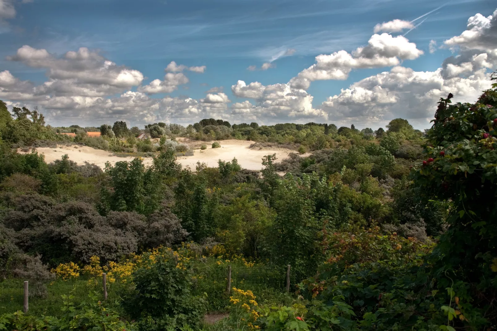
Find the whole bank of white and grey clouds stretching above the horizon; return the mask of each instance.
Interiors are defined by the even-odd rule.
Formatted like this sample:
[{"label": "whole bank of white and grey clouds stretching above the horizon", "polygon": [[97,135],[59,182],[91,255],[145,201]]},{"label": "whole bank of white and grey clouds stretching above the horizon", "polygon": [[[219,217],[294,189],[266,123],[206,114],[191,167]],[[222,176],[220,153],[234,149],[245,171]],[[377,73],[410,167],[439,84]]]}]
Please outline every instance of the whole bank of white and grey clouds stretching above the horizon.
[{"label": "whole bank of white and grey clouds stretching above the horizon", "polygon": [[[0,23],[8,24],[16,17],[14,4],[0,0]],[[46,80],[33,83],[15,77],[11,70],[0,70],[0,99],[10,106],[38,106],[48,123],[66,125],[115,120],[130,125],[157,121],[191,124],[213,117],[232,123],[314,121],[379,127],[402,117],[428,127],[440,97],[451,92],[455,101],[473,101],[490,87],[490,74],[497,68],[497,9],[487,16],[474,13],[466,30],[440,45],[433,39],[429,45],[426,42],[423,46],[428,52],[406,36],[415,26],[414,21],[402,19],[378,22],[371,26],[372,34],[363,46],[318,54],[314,64],[297,69],[286,83],[238,80],[226,83],[231,85],[228,92],[223,92],[222,86],[212,87],[200,98],[167,94],[188,87],[192,75],[209,73],[209,66],[170,61],[163,77],[152,77],[146,83],[141,71],[107,59],[105,49],[80,47],[57,55],[23,45],[6,57],[6,63],[41,70]],[[410,68],[410,61],[440,49],[449,49],[452,55],[436,70]],[[276,71],[276,61],[298,52],[282,47],[262,65],[243,69],[254,74]],[[352,72],[372,69],[379,73],[344,85],[321,104],[313,103],[309,90],[314,82],[346,81]]]}]

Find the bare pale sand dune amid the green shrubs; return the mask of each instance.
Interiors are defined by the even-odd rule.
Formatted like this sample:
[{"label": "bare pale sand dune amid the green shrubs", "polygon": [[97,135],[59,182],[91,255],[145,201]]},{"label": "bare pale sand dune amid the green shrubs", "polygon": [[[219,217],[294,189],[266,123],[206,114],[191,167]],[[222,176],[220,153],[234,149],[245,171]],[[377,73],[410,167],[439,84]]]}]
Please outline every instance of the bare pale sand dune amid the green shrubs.
[{"label": "bare pale sand dune amid the green shrubs", "polygon": [[[278,161],[285,159],[289,153],[292,151],[288,149],[249,149],[248,146],[253,142],[244,140],[223,140],[219,142],[221,148],[211,148],[211,143],[206,143],[206,150],[194,150],[193,156],[181,156],[177,158],[177,161],[183,166],[190,166],[195,169],[197,162],[204,162],[208,166],[217,166],[218,160],[231,161],[233,158],[237,158],[238,163],[246,169],[250,170],[260,170],[262,168],[261,162],[262,157],[265,155],[276,154]],[[95,165],[103,168],[105,163],[108,161],[114,164],[118,161],[131,161],[132,157],[120,158],[112,155],[111,152],[106,152],[102,150],[96,150],[91,147],[86,146],[58,146],[56,149],[48,147],[37,148],[38,153],[43,153],[45,155],[45,161],[47,163],[53,162],[57,159],[61,159],[64,154],[69,156],[69,159],[75,161],[77,164],[81,165],[84,161],[89,163],[94,163]],[[19,153],[22,153],[19,151]],[[145,158],[145,165],[150,165],[152,158]]]}]

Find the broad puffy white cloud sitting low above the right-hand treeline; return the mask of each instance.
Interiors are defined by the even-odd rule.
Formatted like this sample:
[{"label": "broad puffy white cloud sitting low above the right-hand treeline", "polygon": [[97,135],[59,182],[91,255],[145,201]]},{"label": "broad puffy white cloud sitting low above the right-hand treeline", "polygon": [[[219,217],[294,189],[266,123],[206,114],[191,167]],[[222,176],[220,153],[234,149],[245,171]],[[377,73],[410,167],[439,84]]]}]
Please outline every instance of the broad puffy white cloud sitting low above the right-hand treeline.
[{"label": "broad puffy white cloud sitting low above the right-hand treeline", "polygon": [[484,71],[468,78],[444,79],[441,68],[416,72],[394,67],[342,89],[323,102],[322,108],[331,121],[353,119],[366,124],[402,117],[428,123],[440,97],[453,93],[456,102],[475,101],[489,87],[489,77]]}]

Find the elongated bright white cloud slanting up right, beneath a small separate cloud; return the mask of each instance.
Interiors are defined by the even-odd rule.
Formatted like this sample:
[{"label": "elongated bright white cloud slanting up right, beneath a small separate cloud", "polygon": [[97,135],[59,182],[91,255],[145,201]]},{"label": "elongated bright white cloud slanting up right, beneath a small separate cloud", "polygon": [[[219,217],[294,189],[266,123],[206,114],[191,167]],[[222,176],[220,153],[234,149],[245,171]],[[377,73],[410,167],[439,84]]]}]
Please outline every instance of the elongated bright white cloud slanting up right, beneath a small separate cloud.
[{"label": "elongated bright white cloud slanting up right, beneath a small separate cloud", "polygon": [[352,54],[341,50],[330,55],[318,55],[316,64],[300,72],[291,84],[295,88],[307,89],[314,81],[345,80],[352,69],[397,66],[400,60],[414,60],[422,54],[423,51],[404,36],[374,34],[366,46],[357,48]]}]

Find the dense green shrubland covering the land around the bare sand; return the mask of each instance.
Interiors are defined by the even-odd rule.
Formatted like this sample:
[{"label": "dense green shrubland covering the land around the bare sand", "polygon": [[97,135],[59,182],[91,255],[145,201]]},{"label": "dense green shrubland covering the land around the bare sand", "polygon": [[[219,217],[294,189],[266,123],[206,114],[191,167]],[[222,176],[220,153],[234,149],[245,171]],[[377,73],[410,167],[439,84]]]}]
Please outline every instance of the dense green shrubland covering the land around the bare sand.
[{"label": "dense green shrubland covering the land around the bare sand", "polygon": [[[0,329],[494,330],[497,84],[475,103],[451,98],[424,133],[401,118],[375,131],[116,122],[95,146],[153,152],[153,163],[103,171],[18,154],[88,144],[90,130],[63,137],[38,112],[0,104]],[[236,159],[181,168],[177,136],[311,153],[265,156],[261,171]],[[214,312],[228,315],[204,323]]]}]

